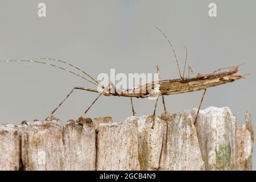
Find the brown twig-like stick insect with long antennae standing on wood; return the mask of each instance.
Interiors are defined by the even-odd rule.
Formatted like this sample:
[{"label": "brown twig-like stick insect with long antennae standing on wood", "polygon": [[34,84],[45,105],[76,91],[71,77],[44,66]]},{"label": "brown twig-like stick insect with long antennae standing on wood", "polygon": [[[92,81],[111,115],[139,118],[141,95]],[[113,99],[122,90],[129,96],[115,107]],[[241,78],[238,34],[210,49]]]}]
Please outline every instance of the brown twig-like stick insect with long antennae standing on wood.
[{"label": "brown twig-like stick insect with long antennae standing on wood", "polygon": [[[7,60],[7,61],[0,61],[0,63],[1,62],[2,63],[3,62],[25,62],[25,63],[38,63],[38,64],[49,65],[51,67],[55,67],[55,68],[61,69],[63,71],[67,71],[67,72],[71,73],[72,75],[80,77],[80,78],[90,82],[93,85],[100,86],[100,88],[103,89],[102,92],[99,92],[96,89],[90,89],[90,88],[84,88],[84,87],[81,87],[81,86],[75,86],[71,90],[71,92],[69,92],[68,95],[64,98],[64,100],[61,101],[59,105],[57,105],[57,107],[48,115],[47,118],[44,119],[44,121],[47,121],[49,118],[51,118],[52,115],[55,113],[55,111],[57,109],[59,109],[59,107],[61,105],[63,105],[63,103],[67,100],[67,98],[69,96],[71,96],[71,94],[75,90],[85,90],[85,91],[89,91],[89,92],[96,92],[96,93],[99,93],[99,94],[96,97],[96,99],[92,102],[92,104],[90,104],[88,109],[86,109],[84,111],[84,113],[82,113],[81,116],[76,121],[80,121],[80,119],[82,119],[82,117],[84,117],[84,115],[89,111],[89,109],[95,104],[95,102],[98,100],[98,98],[100,98],[102,95],[104,95],[104,96],[130,97],[131,110],[133,112],[133,115],[136,114],[135,110],[134,110],[134,105],[133,105],[133,97],[148,98],[148,97],[155,97],[156,96],[154,113],[152,115],[152,117],[153,117],[152,127],[154,127],[156,107],[157,107],[157,104],[158,104],[159,96],[162,96],[164,110],[166,110],[166,105],[165,105],[165,102],[164,102],[164,96],[168,96],[168,95],[171,95],[171,94],[180,94],[180,93],[188,93],[188,92],[194,92],[194,91],[198,91],[198,90],[204,90],[203,96],[201,97],[199,107],[197,109],[196,118],[195,118],[195,121],[194,121],[194,123],[196,123],[197,117],[198,117],[198,114],[199,114],[199,110],[200,110],[201,104],[203,103],[204,96],[205,96],[205,93],[207,91],[207,88],[209,88],[211,86],[226,84],[228,82],[233,82],[233,81],[239,80],[241,78],[245,78],[245,75],[242,75],[241,73],[238,73],[238,68],[239,68],[240,65],[237,65],[237,66],[229,67],[229,68],[221,68],[221,69],[218,69],[217,71],[214,71],[214,72],[208,73],[208,74],[198,73],[197,76],[190,78],[189,77],[189,72],[191,72],[193,74],[193,71],[192,71],[191,67],[188,67],[188,78],[185,78],[184,74],[185,74],[185,69],[186,69],[186,64],[187,64],[187,56],[188,56],[187,47],[184,46],[184,48],[185,48],[185,64],[184,64],[184,68],[183,68],[183,73],[181,75],[180,65],[179,65],[179,61],[177,59],[177,55],[175,53],[174,47],[172,46],[170,40],[167,38],[167,36],[164,34],[164,32],[162,32],[162,30],[160,30],[158,27],[155,27],[155,28],[156,28],[156,30],[158,30],[164,36],[164,38],[167,40],[169,46],[171,47],[172,52],[174,53],[174,56],[175,56],[175,60],[176,60],[176,64],[177,64],[177,68],[178,68],[178,71],[179,71],[180,78],[177,78],[177,79],[174,79],[174,80],[172,80],[172,79],[160,80],[160,74],[159,74],[160,71],[159,71],[159,66],[157,65],[156,66],[156,71],[158,72],[158,76],[159,76],[158,81],[152,81],[152,82],[148,82],[146,84],[139,84],[137,88],[118,89],[118,88],[115,88],[115,85],[112,82],[109,82],[109,84],[106,87],[104,85],[101,85],[98,81],[96,81],[88,73],[86,73],[85,71],[82,71],[82,69],[76,67],[75,65],[72,65],[72,64],[68,63],[67,61],[63,61],[63,60],[57,60],[57,59],[52,59],[52,58],[39,58],[39,59],[33,59],[33,60]],[[55,64],[47,63],[46,61],[57,61],[57,62],[60,62],[60,63],[63,63],[63,64],[67,64],[70,67],[75,68],[77,71],[79,71],[80,74],[76,73],[76,72],[73,72],[73,71],[69,71],[68,69],[59,67]],[[142,92],[142,90],[144,90],[144,92]]]}]

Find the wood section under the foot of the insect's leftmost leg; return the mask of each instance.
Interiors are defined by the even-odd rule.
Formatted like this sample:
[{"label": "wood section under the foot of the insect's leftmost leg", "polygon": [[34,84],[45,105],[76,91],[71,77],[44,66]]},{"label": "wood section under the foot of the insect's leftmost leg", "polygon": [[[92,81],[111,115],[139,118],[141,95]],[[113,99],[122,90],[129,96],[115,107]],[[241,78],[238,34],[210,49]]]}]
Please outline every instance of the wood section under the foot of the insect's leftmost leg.
[{"label": "wood section under the foot of the insect's leftmost leg", "polygon": [[63,170],[63,127],[58,119],[23,123],[20,127],[22,170]]}]

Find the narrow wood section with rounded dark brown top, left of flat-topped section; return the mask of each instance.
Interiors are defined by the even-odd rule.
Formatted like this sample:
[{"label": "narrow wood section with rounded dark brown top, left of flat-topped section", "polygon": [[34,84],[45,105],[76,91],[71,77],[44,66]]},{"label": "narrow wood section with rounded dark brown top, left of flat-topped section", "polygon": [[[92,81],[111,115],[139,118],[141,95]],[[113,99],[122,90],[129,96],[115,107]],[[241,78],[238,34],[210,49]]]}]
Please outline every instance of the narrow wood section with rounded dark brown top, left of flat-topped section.
[{"label": "narrow wood section with rounded dark brown top, left of flat-topped section", "polygon": [[96,170],[96,131],[90,118],[69,121],[63,129],[65,170]]}]

